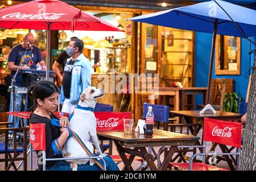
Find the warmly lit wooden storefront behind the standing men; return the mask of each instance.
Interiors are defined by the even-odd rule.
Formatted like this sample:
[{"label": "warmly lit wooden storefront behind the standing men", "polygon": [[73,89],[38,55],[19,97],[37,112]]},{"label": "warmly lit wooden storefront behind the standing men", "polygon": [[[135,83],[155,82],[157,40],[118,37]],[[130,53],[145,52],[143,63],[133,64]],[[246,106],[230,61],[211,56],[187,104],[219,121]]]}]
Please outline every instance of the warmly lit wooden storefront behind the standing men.
[{"label": "warmly lit wooden storefront behind the standing men", "polygon": [[[86,6],[83,1],[68,3],[114,24],[124,32],[53,32],[50,65],[53,64],[57,55],[65,50],[70,38],[77,36],[84,40],[84,54],[90,59],[92,65],[100,65],[100,67],[92,69],[93,86],[97,86],[101,82],[99,76],[108,75],[110,79],[110,75],[119,73],[126,75],[129,73],[159,73],[160,86],[170,86],[177,81],[184,86],[193,85],[193,32],[125,20],[133,16],[162,10],[161,6],[152,3],[139,5],[139,1],[137,9],[130,5],[125,7],[115,4],[111,5],[113,7],[105,7],[105,3],[102,3],[102,6]],[[184,6],[184,4],[174,3],[172,7],[175,6]],[[169,9],[170,7],[165,8]],[[45,53],[46,32],[34,30],[31,32],[36,35],[35,45]],[[16,43],[20,43],[22,38],[23,35],[18,35],[18,38],[8,39],[8,43],[13,46],[14,40]],[[6,43],[6,40],[3,40],[3,45]],[[109,84],[111,84],[110,80]],[[116,84],[117,82],[114,82],[114,87]],[[134,92],[131,94],[109,92],[99,100],[101,103],[113,105],[115,111],[136,110],[141,107],[141,103],[138,101],[135,99]]]}]

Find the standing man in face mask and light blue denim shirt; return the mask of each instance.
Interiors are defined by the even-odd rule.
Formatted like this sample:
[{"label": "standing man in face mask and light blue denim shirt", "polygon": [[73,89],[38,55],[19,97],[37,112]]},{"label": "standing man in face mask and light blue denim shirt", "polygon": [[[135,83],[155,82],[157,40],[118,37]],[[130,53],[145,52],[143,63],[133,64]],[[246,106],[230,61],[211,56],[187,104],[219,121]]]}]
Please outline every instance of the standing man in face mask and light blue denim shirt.
[{"label": "standing man in face mask and light blue denim shirt", "polygon": [[92,65],[82,50],[84,43],[80,39],[71,39],[67,47],[67,59],[60,90],[60,104],[65,113],[72,113],[80,100],[82,91],[90,86]]}]

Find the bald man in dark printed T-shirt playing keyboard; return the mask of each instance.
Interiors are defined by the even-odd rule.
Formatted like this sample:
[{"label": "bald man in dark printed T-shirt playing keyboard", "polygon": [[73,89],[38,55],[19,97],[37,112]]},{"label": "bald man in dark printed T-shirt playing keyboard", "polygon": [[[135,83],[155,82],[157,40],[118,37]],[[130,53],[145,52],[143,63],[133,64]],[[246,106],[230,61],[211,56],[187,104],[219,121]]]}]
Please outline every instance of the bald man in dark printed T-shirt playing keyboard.
[{"label": "bald man in dark printed T-shirt playing keyboard", "polygon": [[[28,33],[23,42],[14,46],[11,49],[7,67],[11,69],[11,78],[16,73],[16,70],[19,67],[20,61],[21,69],[36,69],[36,64],[40,64],[43,70],[46,70],[46,64],[44,63],[41,51],[38,47],[34,46],[35,38],[34,35]],[[27,49],[27,52],[26,52]],[[24,53],[26,52],[26,55]],[[17,90],[26,90],[27,86],[30,85],[28,74],[18,73],[15,79],[15,86]],[[27,94],[26,93],[16,93],[15,94],[15,111],[21,111],[22,101],[25,101],[25,108],[27,110]],[[11,93],[10,99],[10,111],[13,111],[13,93]],[[19,118],[14,117],[13,115],[9,115],[9,122],[14,122],[14,125],[11,127],[19,127]],[[24,122],[24,126],[26,126],[27,122]]]}]

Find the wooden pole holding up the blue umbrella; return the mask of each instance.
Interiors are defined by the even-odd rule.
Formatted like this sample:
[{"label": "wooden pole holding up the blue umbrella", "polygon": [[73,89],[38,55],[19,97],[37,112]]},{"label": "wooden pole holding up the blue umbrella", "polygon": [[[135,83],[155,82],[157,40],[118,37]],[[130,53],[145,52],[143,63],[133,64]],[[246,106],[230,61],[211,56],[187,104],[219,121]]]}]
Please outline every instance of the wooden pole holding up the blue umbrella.
[{"label": "wooden pole holding up the blue umbrella", "polygon": [[205,104],[209,104],[210,83],[212,82],[212,65],[213,65],[213,57],[214,57],[214,51],[215,51],[215,42],[216,42],[217,29],[218,29],[218,19],[216,18],[214,20],[212,50],[210,51],[210,65],[209,65],[209,75],[208,75],[208,85],[207,85],[207,98],[206,98]]}]

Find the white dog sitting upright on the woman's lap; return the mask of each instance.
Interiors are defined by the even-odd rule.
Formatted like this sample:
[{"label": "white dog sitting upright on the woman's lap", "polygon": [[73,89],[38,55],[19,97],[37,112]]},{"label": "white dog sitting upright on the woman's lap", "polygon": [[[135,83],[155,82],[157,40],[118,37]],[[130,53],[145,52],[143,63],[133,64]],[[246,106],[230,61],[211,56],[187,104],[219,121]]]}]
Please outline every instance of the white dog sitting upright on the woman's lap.
[{"label": "white dog sitting upright on the woman's lap", "polygon": [[[94,108],[97,99],[102,96],[104,96],[104,91],[102,89],[97,89],[94,86],[86,88],[80,96],[79,105],[81,107]],[[84,101],[81,100],[82,97],[84,98]],[[90,138],[92,138],[98,153],[100,153],[100,155],[106,156],[106,154],[102,154],[100,144],[98,143],[98,138],[96,134],[96,117],[94,116],[93,111],[76,108],[74,110],[74,115],[71,118],[71,121],[69,121],[69,127],[73,131],[75,131],[77,135],[79,135],[82,142],[84,142],[86,147],[92,153],[93,145],[89,142]],[[67,140],[62,154],[64,157],[67,158],[88,156],[88,154],[81,147],[77,139],[73,136]],[[66,162],[71,164],[71,168],[73,171],[77,171],[77,164],[86,164],[88,161],[90,161],[90,166],[94,164],[93,159],[66,160]]]}]

